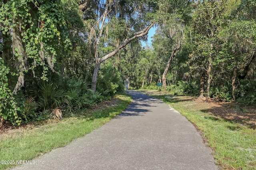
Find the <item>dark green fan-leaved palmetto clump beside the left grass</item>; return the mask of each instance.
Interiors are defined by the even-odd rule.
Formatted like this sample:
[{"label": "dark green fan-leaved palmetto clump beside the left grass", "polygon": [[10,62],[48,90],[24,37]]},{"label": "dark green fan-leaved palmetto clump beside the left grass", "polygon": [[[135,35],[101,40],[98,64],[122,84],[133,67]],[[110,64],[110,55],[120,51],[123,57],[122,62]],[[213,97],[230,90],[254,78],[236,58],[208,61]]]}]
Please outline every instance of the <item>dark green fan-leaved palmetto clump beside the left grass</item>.
[{"label": "dark green fan-leaved palmetto clump beside the left grass", "polygon": [[31,91],[31,93],[41,111],[49,109],[54,118],[61,119],[64,110],[79,111],[101,101],[101,94],[94,93],[89,85],[81,78],[66,77],[60,87],[53,83],[45,83],[37,91]]}]

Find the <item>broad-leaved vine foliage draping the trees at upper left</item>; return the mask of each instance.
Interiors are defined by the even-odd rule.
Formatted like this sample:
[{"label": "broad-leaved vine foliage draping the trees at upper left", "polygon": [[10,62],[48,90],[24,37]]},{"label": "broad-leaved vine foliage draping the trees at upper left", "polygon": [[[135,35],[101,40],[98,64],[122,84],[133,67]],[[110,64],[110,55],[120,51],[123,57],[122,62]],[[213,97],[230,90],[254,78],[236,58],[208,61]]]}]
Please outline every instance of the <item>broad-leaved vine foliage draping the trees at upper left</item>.
[{"label": "broad-leaved vine foliage draping the trees at upper left", "polygon": [[6,37],[12,41],[8,50],[13,51],[17,71],[27,73],[39,66],[43,68],[40,78],[47,81],[57,54],[68,51],[71,45],[60,1],[9,0],[1,4],[0,18],[3,42]]}]

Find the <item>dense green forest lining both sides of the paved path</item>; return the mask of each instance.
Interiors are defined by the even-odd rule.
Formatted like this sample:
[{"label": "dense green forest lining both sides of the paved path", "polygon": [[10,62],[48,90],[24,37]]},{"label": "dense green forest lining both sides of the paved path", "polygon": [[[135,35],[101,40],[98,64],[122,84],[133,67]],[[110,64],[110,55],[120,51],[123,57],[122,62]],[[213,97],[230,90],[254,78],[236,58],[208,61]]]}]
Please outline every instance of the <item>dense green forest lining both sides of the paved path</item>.
[{"label": "dense green forest lining both sides of the paved path", "polygon": [[72,115],[126,79],[255,105],[255,55],[255,0],[0,0],[0,119]]}]

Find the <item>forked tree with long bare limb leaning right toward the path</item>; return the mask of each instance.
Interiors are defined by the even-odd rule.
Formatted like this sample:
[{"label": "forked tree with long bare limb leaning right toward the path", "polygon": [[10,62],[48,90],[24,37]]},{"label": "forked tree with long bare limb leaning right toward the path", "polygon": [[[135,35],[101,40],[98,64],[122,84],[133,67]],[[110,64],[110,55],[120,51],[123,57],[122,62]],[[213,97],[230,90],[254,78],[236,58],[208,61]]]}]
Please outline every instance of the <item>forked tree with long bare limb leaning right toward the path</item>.
[{"label": "forked tree with long bare limb leaning right toward the path", "polygon": [[[152,9],[151,9],[152,7],[150,6],[150,4],[147,1],[146,1],[146,3],[144,3],[144,2],[138,3],[138,1],[132,1],[132,2],[133,3],[130,3],[130,8],[133,8],[133,10],[132,10],[133,14],[129,14],[130,16],[122,16],[122,15],[120,15],[120,14],[122,14],[122,12],[119,12],[118,10],[116,10],[116,11],[112,10],[112,4],[115,5],[114,7],[118,8],[119,7],[118,5],[120,5],[120,3],[118,4],[118,2],[116,2],[116,1],[106,0],[104,3],[105,4],[104,13],[102,14],[102,16],[99,17],[97,24],[95,26],[91,27],[91,33],[94,34],[91,36],[94,39],[92,42],[93,42],[93,46],[94,46],[94,56],[95,56],[95,67],[94,67],[94,72],[93,72],[93,76],[92,76],[92,86],[91,86],[93,91],[96,91],[96,85],[97,85],[100,64],[102,62],[106,61],[108,58],[115,55],[116,53],[118,53],[118,51],[120,49],[125,47],[132,40],[134,40],[136,38],[140,38],[140,37],[148,34],[148,31],[150,30],[150,28],[152,26],[154,26],[154,22],[150,22],[150,20],[145,20],[144,23],[141,23],[142,27],[145,26],[144,29],[142,29],[142,31],[137,31],[139,28],[141,28],[141,26],[129,24],[130,21],[128,21],[125,17],[128,17],[131,20],[138,20],[141,22],[141,20],[142,20],[141,16],[139,16],[139,15],[136,16],[136,13],[138,13],[138,12],[142,13],[144,15],[144,17],[146,17],[146,14],[148,12],[152,11]],[[136,8],[136,7],[138,7],[138,4],[143,4],[144,8]],[[129,4],[122,4],[122,5],[127,6]],[[146,9],[149,9],[149,10],[146,10]],[[145,10],[145,11],[143,11],[143,10]],[[115,17],[113,16],[113,13],[112,13],[113,11],[114,11]],[[123,25],[126,28],[124,28],[123,29],[124,32],[122,32],[122,33],[126,33],[126,34],[122,35],[122,37],[118,37],[118,40],[121,39],[121,41],[117,43],[116,48],[113,51],[110,51],[109,53],[107,53],[103,56],[100,56],[99,55],[100,42],[102,40],[102,37],[106,36],[106,35],[104,35],[104,28],[106,27],[106,25],[108,23],[111,22],[111,20],[113,18],[116,18],[118,16],[121,16],[123,18],[122,21],[127,23],[126,25]],[[134,24],[134,23],[132,23],[132,24]],[[129,25],[130,25],[130,27],[129,27]],[[123,31],[123,30],[121,30],[121,31]]]}]

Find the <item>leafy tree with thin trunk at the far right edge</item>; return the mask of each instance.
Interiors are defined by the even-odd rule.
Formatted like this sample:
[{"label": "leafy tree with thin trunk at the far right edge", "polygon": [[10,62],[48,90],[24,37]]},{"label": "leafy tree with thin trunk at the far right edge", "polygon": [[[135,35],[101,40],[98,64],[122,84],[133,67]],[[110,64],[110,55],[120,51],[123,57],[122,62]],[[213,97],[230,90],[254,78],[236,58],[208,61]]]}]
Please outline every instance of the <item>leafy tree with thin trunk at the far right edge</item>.
[{"label": "leafy tree with thin trunk at the far right edge", "polygon": [[[232,70],[232,96],[235,97],[235,81],[236,79],[245,79],[248,73],[254,73],[252,65],[255,60],[256,53],[256,23],[254,21],[239,21],[228,24],[220,33],[223,41],[223,48],[230,57],[226,58],[229,69]],[[223,50],[223,51],[224,51]]]}]

